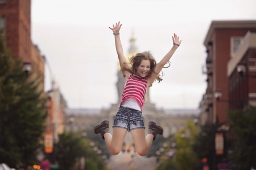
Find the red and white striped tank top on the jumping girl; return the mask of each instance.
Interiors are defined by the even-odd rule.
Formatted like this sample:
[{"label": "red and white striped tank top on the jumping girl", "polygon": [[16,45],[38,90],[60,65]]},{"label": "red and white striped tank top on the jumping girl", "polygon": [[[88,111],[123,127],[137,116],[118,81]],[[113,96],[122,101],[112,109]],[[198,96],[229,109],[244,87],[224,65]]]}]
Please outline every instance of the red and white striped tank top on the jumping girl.
[{"label": "red and white striped tank top on the jumping girl", "polygon": [[145,94],[147,90],[147,78],[142,78],[137,75],[131,74],[125,85],[125,89],[123,89],[122,103],[129,98],[135,99],[141,106],[141,110],[143,109]]}]

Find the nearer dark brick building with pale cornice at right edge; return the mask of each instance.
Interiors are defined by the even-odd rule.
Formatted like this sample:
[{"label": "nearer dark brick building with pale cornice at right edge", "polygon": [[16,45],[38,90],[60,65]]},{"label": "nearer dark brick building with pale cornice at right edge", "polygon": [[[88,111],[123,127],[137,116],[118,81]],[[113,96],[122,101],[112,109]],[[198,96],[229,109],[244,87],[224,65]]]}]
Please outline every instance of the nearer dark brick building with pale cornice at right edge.
[{"label": "nearer dark brick building with pale cornice at right edge", "polygon": [[230,109],[256,107],[256,32],[248,31],[228,63]]}]

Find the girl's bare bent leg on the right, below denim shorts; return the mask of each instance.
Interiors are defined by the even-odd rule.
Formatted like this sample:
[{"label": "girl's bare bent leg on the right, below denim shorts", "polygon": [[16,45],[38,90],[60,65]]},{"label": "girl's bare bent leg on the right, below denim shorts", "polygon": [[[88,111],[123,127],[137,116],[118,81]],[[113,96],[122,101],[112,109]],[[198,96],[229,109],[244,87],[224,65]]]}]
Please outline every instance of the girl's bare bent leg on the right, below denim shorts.
[{"label": "girl's bare bent leg on the right, below denim shorts", "polygon": [[147,134],[147,136],[145,136],[144,128],[137,128],[130,132],[131,136],[133,136],[137,153],[141,156],[145,156],[150,150],[154,136],[152,134]]}]

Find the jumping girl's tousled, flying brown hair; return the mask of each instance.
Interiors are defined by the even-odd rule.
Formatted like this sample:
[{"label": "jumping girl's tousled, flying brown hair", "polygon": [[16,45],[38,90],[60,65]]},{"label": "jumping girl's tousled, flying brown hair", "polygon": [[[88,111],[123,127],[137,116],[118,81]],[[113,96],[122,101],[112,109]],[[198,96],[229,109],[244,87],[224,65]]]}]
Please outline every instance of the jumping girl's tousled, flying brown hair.
[{"label": "jumping girl's tousled, flying brown hair", "polygon": [[[129,58],[130,63],[127,63],[129,65],[129,68],[125,67],[125,63],[123,63],[123,68],[121,69],[121,71],[129,71],[132,74],[136,74],[137,69],[139,67],[139,65],[141,64],[142,60],[149,60],[150,61],[150,71],[147,73],[146,77],[151,77],[151,74],[154,71],[155,67],[156,67],[156,60],[155,58],[152,56],[152,54],[149,51],[145,51],[142,53],[137,53],[135,56],[132,56],[131,58]],[[170,61],[168,61],[168,67],[170,67]],[[164,68],[168,68],[168,67],[164,67]],[[161,71],[162,72],[162,71]],[[124,76],[125,77],[125,76]],[[162,75],[158,74],[158,76],[155,78],[155,81],[162,81],[163,79],[161,78],[163,77],[163,72]]]}]

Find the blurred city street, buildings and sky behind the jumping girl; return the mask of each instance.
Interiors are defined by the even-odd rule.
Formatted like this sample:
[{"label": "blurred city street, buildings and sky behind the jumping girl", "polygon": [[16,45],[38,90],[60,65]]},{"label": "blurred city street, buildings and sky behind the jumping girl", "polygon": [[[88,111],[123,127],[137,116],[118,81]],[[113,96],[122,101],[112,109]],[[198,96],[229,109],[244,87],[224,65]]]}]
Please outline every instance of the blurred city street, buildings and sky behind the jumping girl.
[{"label": "blurred city street, buildings and sky behind the jumping girl", "polygon": [[[256,1],[0,0],[0,169],[256,168]],[[159,62],[143,119],[164,128],[147,156],[127,133],[111,156],[93,129],[113,125],[126,59]],[[112,132],[112,128],[110,128]],[[240,140],[244,139],[244,140]]]}]

